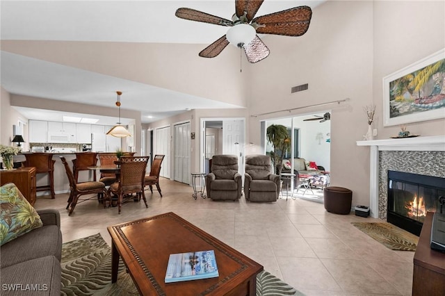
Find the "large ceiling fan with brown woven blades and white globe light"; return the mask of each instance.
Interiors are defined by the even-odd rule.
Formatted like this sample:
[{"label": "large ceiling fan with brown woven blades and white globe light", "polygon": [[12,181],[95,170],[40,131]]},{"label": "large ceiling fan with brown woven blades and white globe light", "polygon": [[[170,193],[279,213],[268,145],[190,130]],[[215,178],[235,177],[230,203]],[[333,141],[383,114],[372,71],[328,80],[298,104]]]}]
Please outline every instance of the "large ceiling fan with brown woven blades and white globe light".
[{"label": "large ceiling fan with brown woven blades and white globe light", "polygon": [[236,47],[244,49],[250,63],[257,63],[270,53],[257,33],[301,36],[309,28],[312,17],[312,10],[309,6],[298,6],[254,18],[263,1],[235,0],[235,13],[232,20],[202,13],[192,8],[178,8],[175,15],[181,19],[231,27],[226,35],[203,49],[199,56],[214,58],[229,43],[232,43]]}]

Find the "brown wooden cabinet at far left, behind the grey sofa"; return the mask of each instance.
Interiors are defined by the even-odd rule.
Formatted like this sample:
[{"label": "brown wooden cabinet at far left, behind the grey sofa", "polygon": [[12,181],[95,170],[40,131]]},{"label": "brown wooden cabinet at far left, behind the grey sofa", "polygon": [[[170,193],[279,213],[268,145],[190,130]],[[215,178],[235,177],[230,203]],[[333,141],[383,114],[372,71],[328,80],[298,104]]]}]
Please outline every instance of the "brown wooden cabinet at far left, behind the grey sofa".
[{"label": "brown wooden cabinet at far left, behind the grey sofa", "polygon": [[0,171],[0,186],[6,183],[15,183],[22,195],[31,205],[35,204],[35,167],[19,167],[15,170]]}]

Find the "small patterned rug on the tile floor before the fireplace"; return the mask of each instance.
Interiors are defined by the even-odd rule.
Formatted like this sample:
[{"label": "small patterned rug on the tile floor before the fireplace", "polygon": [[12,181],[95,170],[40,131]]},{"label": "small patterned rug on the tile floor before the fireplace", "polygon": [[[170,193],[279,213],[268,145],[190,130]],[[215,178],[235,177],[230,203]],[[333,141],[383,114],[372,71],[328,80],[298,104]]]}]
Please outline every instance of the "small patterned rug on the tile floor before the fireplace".
[{"label": "small patterned rug on the tile floor before the fireplace", "polygon": [[351,222],[355,227],[389,249],[415,251],[419,237],[387,222]]}]

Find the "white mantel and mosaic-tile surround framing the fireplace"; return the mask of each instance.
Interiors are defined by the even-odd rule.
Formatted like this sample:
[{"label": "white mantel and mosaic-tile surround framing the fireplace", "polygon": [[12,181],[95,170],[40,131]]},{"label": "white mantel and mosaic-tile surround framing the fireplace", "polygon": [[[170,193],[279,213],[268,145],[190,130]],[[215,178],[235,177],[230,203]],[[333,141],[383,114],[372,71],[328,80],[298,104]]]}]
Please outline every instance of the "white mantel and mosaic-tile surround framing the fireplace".
[{"label": "white mantel and mosaic-tile surround framing the fireplace", "polygon": [[371,216],[387,220],[388,170],[445,178],[445,135],[357,141],[370,146]]}]

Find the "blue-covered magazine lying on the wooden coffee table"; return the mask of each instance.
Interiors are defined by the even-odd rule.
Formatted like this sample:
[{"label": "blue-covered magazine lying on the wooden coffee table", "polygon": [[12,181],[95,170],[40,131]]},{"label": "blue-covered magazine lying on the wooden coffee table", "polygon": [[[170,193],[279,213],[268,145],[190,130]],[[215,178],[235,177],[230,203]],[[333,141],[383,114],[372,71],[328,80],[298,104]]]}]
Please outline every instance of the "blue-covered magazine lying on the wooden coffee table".
[{"label": "blue-covered magazine lying on the wooden coffee table", "polygon": [[170,254],[165,283],[209,279],[218,276],[218,266],[213,250]]}]

